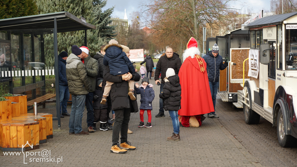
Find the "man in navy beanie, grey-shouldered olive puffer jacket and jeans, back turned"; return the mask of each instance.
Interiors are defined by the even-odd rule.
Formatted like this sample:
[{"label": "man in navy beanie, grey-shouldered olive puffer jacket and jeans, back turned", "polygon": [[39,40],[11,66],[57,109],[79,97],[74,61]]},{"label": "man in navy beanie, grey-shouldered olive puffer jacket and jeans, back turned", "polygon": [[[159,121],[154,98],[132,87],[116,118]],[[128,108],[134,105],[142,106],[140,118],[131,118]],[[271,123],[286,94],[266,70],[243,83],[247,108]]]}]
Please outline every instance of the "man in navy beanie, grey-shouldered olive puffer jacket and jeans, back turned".
[{"label": "man in navy beanie, grey-shouldered olive puffer jacket and jeans, back turned", "polygon": [[72,106],[69,118],[69,134],[89,135],[81,127],[85,109],[86,94],[89,92],[89,81],[86,67],[81,62],[82,51],[78,46],[72,46],[72,53],[66,60],[66,78],[69,93],[72,95]]}]

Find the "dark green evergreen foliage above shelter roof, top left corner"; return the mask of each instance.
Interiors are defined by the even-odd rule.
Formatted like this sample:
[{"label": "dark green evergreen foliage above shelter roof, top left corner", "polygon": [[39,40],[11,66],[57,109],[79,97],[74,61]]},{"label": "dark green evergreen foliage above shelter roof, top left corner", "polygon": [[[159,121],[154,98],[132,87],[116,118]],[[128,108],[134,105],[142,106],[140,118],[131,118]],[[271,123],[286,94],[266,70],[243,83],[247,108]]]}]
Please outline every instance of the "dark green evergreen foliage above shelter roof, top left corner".
[{"label": "dark green evergreen foliage above shelter roof, top left corner", "polygon": [[0,19],[37,14],[33,0],[0,0]]}]

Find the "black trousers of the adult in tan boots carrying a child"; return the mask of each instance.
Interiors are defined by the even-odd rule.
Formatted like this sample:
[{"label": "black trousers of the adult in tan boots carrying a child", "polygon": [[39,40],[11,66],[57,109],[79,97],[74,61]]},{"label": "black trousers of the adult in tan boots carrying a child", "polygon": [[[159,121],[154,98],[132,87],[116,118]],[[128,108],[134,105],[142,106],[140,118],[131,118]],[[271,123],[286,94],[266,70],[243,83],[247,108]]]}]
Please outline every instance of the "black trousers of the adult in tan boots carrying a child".
[{"label": "black trousers of the adult in tan boots carrying a child", "polygon": [[121,132],[121,143],[127,142],[128,136],[128,124],[130,121],[130,108],[124,108],[119,110],[114,110],[115,121],[113,124],[112,132],[112,145],[117,145],[119,143],[119,135]]}]

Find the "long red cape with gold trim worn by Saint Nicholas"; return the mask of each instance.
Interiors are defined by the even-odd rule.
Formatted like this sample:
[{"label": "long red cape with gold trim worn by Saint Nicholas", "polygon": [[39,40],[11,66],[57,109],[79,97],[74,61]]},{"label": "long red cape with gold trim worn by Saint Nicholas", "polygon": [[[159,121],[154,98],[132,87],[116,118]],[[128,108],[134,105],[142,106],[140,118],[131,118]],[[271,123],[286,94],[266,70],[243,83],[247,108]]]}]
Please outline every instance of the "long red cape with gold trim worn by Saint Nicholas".
[{"label": "long red cape with gold trim worn by Saint Nicholas", "polygon": [[[206,62],[200,58],[206,68]],[[201,72],[197,59],[187,57],[178,76],[181,84],[181,109],[178,115],[192,116],[214,112],[206,69]]]}]

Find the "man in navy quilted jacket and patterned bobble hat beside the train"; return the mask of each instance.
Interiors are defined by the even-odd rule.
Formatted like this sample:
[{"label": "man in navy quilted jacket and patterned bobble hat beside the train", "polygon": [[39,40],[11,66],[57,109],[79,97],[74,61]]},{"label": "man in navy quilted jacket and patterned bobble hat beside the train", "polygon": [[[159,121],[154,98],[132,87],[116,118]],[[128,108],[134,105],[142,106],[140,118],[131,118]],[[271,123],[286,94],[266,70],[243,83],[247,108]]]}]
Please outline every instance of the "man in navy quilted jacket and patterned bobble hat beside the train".
[{"label": "man in navy quilted jacket and patterned bobble hat beside the train", "polygon": [[[206,71],[208,75],[212,102],[214,104],[214,111],[216,111],[215,106],[219,88],[220,70],[224,70],[228,66],[229,57],[226,56],[225,63],[223,64],[223,58],[221,55],[219,55],[219,46],[215,43],[212,47],[212,50],[206,53],[206,55],[203,56],[203,59],[206,62]],[[208,113],[207,116],[209,118],[219,118],[215,112]]]}]

